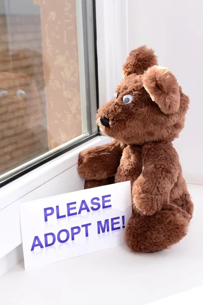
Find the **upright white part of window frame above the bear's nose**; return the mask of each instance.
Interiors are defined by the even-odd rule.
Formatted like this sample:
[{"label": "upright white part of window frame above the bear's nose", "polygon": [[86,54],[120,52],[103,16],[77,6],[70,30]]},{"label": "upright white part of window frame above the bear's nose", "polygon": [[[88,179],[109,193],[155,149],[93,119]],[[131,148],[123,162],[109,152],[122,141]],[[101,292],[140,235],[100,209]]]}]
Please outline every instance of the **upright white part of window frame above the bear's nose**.
[{"label": "upright white part of window frame above the bear's nose", "polygon": [[114,96],[127,56],[126,3],[96,0],[99,106]]}]

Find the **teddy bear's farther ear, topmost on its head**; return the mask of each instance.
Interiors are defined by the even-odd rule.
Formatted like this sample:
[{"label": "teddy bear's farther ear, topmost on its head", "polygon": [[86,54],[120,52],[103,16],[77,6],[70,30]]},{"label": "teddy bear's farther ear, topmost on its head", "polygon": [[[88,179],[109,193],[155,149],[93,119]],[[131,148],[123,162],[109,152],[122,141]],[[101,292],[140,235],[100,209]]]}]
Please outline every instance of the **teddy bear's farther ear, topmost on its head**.
[{"label": "teddy bear's farther ear, topmost on its head", "polygon": [[130,74],[143,74],[149,67],[158,65],[154,50],[141,46],[132,50],[122,68],[123,77]]}]

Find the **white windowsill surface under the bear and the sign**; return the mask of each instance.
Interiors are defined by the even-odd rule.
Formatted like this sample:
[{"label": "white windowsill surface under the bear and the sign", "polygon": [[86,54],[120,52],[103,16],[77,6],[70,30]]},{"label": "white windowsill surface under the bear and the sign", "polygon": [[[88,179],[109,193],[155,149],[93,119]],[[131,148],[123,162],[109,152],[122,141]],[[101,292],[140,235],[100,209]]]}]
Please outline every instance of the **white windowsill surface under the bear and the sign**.
[{"label": "white windowsill surface under the bear and the sign", "polygon": [[[202,286],[203,186],[189,185],[188,189],[194,216],[188,235],[170,250],[134,254],[120,246],[28,271],[22,261],[0,279],[2,304],[120,305],[133,301],[144,305],[165,297],[157,304],[171,304],[167,297]],[[192,293],[192,303],[199,305],[195,290],[177,296],[178,303],[189,304],[185,300]],[[172,300],[178,304],[176,296]]]}]

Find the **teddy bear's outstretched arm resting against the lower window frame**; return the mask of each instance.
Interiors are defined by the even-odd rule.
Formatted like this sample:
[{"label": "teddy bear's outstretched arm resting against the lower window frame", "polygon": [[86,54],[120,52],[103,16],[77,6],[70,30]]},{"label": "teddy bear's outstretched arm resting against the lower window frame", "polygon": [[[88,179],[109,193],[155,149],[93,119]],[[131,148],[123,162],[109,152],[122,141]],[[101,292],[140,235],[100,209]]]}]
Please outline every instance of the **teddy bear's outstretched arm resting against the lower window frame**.
[{"label": "teddy bear's outstretched arm resting against the lower window frame", "polygon": [[86,180],[112,177],[116,174],[122,152],[122,143],[117,140],[82,151],[78,158],[78,173]]}]

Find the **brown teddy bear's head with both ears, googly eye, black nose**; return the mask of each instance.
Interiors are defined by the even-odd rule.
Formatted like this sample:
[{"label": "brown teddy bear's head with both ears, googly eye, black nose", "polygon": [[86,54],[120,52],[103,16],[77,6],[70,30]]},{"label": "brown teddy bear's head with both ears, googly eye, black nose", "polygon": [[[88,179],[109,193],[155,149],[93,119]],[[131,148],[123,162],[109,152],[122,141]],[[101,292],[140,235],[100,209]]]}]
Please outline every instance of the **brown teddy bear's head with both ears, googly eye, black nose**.
[{"label": "brown teddy bear's head with both ears, googly eye, black nose", "polygon": [[132,50],[114,99],[98,109],[97,124],[125,144],[172,141],[184,127],[189,98],[167,68],[157,65],[152,49]]}]

